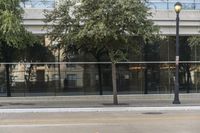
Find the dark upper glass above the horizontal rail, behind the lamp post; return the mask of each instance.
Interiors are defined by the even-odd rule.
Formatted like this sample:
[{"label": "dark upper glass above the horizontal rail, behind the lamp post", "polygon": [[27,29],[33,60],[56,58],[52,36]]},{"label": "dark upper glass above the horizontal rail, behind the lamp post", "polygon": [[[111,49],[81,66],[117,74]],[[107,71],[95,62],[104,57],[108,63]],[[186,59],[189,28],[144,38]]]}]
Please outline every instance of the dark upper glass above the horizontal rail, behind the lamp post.
[{"label": "dark upper glass above the horizontal rail, behind the lamp post", "polygon": [[[129,61],[175,61],[176,51],[176,37],[166,36],[157,41],[146,42],[141,46],[140,51],[137,53],[130,52]],[[188,36],[180,37],[180,60],[181,61],[194,61],[200,58],[198,54],[200,47],[189,46]]]}]

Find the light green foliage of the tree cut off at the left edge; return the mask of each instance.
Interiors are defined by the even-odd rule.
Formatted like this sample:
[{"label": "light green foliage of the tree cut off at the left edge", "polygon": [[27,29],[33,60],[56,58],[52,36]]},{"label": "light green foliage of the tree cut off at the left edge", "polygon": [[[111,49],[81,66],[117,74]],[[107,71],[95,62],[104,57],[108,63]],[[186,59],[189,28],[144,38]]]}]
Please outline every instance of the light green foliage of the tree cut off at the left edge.
[{"label": "light green foliage of the tree cut off at the left edge", "polygon": [[22,13],[19,0],[0,1],[0,40],[6,45],[22,48],[33,42],[33,35],[22,26]]}]

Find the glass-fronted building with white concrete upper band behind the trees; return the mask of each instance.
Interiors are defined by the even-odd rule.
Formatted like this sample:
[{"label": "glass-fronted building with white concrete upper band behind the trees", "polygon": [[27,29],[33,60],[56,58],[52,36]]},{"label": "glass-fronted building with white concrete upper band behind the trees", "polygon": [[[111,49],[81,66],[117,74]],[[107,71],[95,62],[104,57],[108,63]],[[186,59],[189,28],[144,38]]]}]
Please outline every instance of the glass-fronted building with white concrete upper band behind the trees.
[{"label": "glass-fronted building with white concrete upper band behind the trees", "polygon": [[[120,94],[173,93],[176,33],[174,4],[177,1],[180,1],[184,8],[180,14],[180,92],[200,92],[200,47],[189,47],[187,42],[188,37],[200,34],[200,0],[149,0],[148,6],[152,12],[152,18],[149,19],[160,27],[161,34],[167,38],[163,42],[147,46],[139,56],[130,55],[130,62],[117,65]],[[52,10],[59,2],[28,0],[21,3],[25,9],[23,24],[27,30],[43,36],[46,43],[48,38],[43,28],[43,11]],[[56,51],[55,56],[56,61],[62,61],[60,51]],[[92,58],[85,58],[87,57],[79,57],[61,64],[32,63],[32,75],[29,75],[28,82],[25,77],[28,75],[29,64],[14,64],[12,95],[111,94],[110,63],[98,64]],[[0,93],[5,95],[5,91],[5,85],[2,83]]]}]

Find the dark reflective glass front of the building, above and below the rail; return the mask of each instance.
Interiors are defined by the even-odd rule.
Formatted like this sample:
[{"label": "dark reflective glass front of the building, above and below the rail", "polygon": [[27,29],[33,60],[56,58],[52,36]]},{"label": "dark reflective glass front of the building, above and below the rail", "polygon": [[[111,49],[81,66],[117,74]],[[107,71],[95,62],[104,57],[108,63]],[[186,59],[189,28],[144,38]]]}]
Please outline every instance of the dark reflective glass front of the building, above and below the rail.
[{"label": "dark reflective glass front of the building, above and below the rail", "polygon": [[[180,92],[197,93],[200,92],[200,46],[190,46],[188,38],[180,36]],[[173,93],[176,37],[163,37],[142,46],[137,54],[130,51],[130,62],[116,65],[119,94]],[[18,54],[21,53],[25,52]],[[53,56],[48,53],[49,49],[43,48],[43,45],[32,47],[26,51],[26,60],[23,60],[29,63],[10,64],[12,96],[112,94],[110,63],[89,63],[92,55],[88,55],[87,58],[77,57],[84,63],[71,61],[58,65],[57,62],[48,62]],[[104,58],[108,60],[107,56]],[[5,65],[2,63],[0,96],[6,96],[6,90]]]}]

